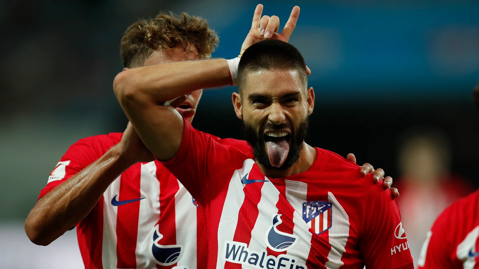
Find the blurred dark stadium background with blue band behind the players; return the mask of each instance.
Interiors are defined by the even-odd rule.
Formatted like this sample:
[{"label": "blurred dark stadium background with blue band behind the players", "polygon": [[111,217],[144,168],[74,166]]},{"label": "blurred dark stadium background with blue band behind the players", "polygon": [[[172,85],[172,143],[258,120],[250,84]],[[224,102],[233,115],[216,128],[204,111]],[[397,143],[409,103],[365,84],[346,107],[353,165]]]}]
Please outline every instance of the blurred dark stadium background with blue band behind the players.
[{"label": "blurred dark stadium background with blue band behind the players", "polygon": [[[218,32],[213,56],[233,58],[256,4],[0,0],[0,268],[83,268],[74,231],[38,247],[23,221],[70,144],[125,128],[112,82],[122,70],[126,27],[160,10],[186,11]],[[471,102],[479,79],[479,2],[262,4],[281,27],[291,8],[301,7],[290,43],[305,56],[316,92],[308,143],[353,152],[358,163],[393,176],[417,257],[435,215],[479,184],[479,120]],[[242,138],[232,90],[206,91],[194,126]]]}]

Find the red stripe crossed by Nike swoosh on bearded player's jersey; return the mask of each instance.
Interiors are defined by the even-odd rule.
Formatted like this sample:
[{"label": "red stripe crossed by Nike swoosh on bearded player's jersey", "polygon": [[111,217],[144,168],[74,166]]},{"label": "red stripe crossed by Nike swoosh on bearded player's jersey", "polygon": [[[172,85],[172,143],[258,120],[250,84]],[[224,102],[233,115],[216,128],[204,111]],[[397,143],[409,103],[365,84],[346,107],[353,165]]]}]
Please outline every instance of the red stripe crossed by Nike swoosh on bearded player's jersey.
[{"label": "red stripe crossed by Nike swoosh on bearded player's jersey", "polygon": [[[255,163],[247,176],[248,180],[264,180],[264,175],[260,168]],[[244,202],[241,204],[238,212],[238,223],[236,224],[236,231],[233,241],[250,244],[251,230],[258,218],[259,210],[258,204],[261,200],[261,188],[264,183],[255,182],[246,184],[243,188]],[[261,187],[260,187],[261,186]],[[241,264],[225,262],[225,269],[241,268]]]}]

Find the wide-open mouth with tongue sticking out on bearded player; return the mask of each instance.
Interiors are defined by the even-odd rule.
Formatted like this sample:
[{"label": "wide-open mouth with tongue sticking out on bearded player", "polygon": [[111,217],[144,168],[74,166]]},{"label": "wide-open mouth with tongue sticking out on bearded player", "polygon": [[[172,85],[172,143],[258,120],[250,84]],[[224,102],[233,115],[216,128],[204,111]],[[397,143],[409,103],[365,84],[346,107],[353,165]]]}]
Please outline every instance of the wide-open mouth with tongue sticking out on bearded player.
[{"label": "wide-open mouth with tongue sticking out on bearded player", "polygon": [[264,142],[270,163],[274,167],[280,167],[288,157],[291,144],[291,134],[286,130],[273,130],[264,133]]}]

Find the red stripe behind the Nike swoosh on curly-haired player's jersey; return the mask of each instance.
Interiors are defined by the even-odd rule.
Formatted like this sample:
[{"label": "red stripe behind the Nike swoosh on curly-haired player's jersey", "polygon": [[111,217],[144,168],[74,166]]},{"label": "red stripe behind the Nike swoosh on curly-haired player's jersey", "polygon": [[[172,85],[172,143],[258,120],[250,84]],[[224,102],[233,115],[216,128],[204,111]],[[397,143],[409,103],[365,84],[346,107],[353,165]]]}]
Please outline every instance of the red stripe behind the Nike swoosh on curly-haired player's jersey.
[{"label": "red stripe behind the Nike swoosh on curly-haired player's jersey", "polygon": [[[140,199],[140,169],[141,163],[137,163],[123,172],[120,179],[120,191],[118,201]],[[127,179],[127,180],[124,180]],[[118,206],[116,217],[116,255],[118,257],[117,268],[136,268],[138,215],[140,202],[132,202]]]}]

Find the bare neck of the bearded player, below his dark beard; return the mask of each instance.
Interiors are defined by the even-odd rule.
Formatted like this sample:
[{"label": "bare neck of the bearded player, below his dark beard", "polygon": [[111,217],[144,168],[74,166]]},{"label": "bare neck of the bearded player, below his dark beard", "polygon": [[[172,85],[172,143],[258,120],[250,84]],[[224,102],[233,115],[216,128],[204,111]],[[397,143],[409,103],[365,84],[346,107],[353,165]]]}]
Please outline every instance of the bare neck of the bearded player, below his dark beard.
[{"label": "bare neck of the bearded player, below his dark beard", "polygon": [[261,172],[269,177],[269,178],[282,178],[282,177],[287,177],[291,175],[296,175],[302,172],[307,171],[314,163],[316,160],[316,155],[317,151],[315,148],[309,146],[306,144],[306,142],[303,142],[303,149],[299,153],[299,159],[293,166],[291,166],[288,169],[285,170],[271,170],[264,168],[258,161],[256,161],[256,164],[258,164]]}]

